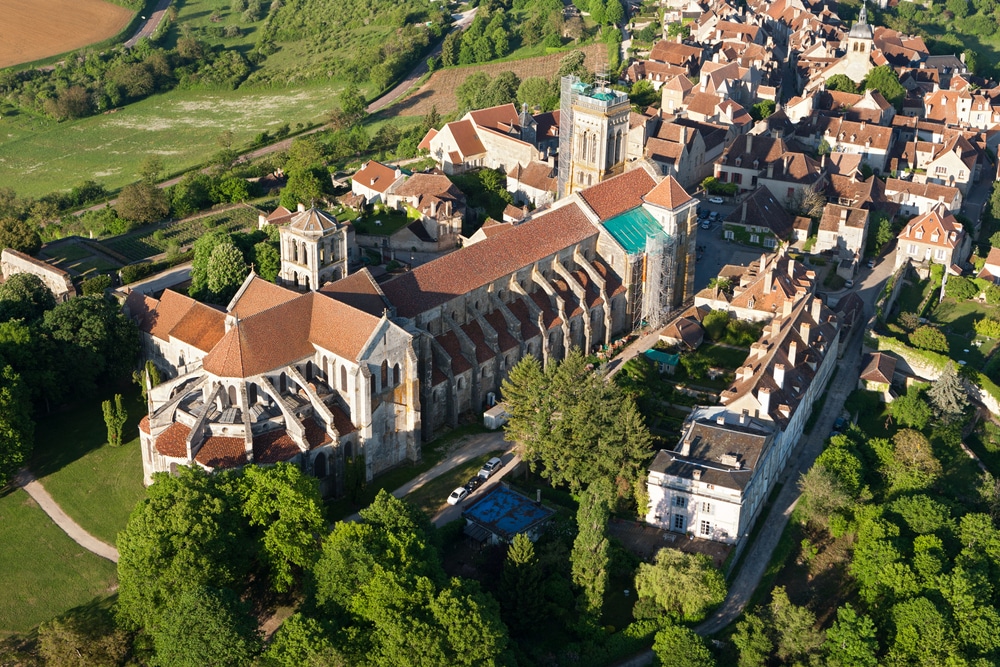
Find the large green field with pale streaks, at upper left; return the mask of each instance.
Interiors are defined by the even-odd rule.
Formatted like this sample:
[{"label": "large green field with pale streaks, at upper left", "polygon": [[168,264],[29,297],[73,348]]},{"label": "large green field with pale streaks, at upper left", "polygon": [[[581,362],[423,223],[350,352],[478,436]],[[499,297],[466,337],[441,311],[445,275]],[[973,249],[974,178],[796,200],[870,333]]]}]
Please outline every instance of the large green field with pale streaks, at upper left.
[{"label": "large green field with pale streaks, at upper left", "polygon": [[[2,0],[0,0],[2,1]],[[116,113],[57,123],[23,113],[0,117],[0,183],[37,197],[92,179],[108,188],[137,180],[139,166],[158,156],[164,173],[206,162],[229,130],[233,147],[284,124],[322,121],[341,84],[294,90],[182,91],[155,95]]]}]

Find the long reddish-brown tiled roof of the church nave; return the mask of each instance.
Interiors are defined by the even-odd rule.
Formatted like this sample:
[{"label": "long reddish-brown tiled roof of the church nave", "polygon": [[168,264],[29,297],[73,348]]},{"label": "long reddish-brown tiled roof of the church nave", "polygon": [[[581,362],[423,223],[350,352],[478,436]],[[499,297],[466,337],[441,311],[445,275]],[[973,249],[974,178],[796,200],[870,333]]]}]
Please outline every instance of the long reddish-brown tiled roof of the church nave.
[{"label": "long reddish-brown tiled roof of the church nave", "polygon": [[579,205],[571,202],[419,266],[382,290],[400,317],[415,317],[596,234]]}]

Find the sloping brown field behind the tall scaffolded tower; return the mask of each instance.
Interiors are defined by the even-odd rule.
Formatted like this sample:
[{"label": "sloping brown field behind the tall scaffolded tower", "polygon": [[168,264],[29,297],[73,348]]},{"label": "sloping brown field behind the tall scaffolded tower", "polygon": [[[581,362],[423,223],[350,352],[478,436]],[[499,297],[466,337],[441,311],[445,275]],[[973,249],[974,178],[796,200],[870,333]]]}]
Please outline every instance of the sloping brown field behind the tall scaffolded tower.
[{"label": "sloping brown field behind the tall scaffolded tower", "polygon": [[[586,66],[591,70],[607,60],[608,57],[607,46],[604,44],[591,44],[581,51],[587,56]],[[423,116],[430,113],[432,107],[437,107],[438,113],[442,115],[453,113],[458,110],[455,89],[473,72],[486,72],[489,76],[494,77],[500,72],[510,71],[517,74],[522,80],[532,76],[551,78],[559,70],[559,61],[568,53],[571,51],[560,51],[524,60],[503,60],[483,65],[438,70],[409,97],[393,105],[390,112],[400,116]]]}]

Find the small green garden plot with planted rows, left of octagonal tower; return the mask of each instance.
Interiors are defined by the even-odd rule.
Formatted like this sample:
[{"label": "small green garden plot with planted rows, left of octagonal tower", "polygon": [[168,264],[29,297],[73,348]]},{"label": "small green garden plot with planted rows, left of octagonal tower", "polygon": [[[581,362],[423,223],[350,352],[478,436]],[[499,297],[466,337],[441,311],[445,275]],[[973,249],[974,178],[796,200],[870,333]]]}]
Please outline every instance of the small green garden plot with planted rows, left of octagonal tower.
[{"label": "small green garden plot with planted rows, left of octagonal tower", "polygon": [[157,229],[146,228],[131,234],[116,236],[101,241],[101,245],[118,253],[130,262],[159,255],[167,246],[176,243],[183,248],[194,243],[210,229],[225,229],[230,232],[245,232],[257,229],[257,209],[252,206],[238,206],[221,213],[185,218]]}]

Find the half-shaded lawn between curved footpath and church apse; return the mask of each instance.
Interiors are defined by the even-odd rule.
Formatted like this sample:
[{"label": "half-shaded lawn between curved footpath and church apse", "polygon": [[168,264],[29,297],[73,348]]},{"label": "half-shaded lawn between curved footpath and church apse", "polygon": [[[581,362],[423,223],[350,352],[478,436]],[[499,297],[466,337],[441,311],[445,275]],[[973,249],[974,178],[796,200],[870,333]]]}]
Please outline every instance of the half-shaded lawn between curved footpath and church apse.
[{"label": "half-shaded lawn between curved footpath and church apse", "polygon": [[135,504],[144,497],[138,422],[145,407],[137,393],[123,404],[129,413],[126,444],[111,447],[100,400],[38,419],[31,468],[63,511],[95,537],[115,543]]}]

